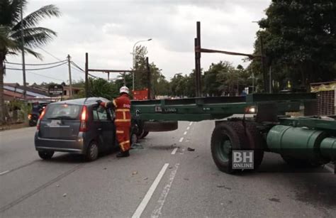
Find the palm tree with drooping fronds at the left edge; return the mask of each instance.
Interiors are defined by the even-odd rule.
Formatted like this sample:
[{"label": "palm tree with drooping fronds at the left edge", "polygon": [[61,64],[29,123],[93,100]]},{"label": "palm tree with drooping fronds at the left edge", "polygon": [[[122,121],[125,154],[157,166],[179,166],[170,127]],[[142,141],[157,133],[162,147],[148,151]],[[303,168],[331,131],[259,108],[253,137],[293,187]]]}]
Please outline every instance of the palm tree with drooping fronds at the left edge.
[{"label": "palm tree with drooping fronds at the left edge", "polygon": [[[41,59],[42,56],[33,49],[48,43],[56,33],[48,28],[37,27],[44,18],[60,16],[59,9],[54,5],[43,6],[23,18],[21,9],[25,9],[26,0],[0,1],[0,124],[4,124],[4,61],[7,55],[17,55],[21,49],[25,53]],[[24,44],[21,40],[23,28]]]}]

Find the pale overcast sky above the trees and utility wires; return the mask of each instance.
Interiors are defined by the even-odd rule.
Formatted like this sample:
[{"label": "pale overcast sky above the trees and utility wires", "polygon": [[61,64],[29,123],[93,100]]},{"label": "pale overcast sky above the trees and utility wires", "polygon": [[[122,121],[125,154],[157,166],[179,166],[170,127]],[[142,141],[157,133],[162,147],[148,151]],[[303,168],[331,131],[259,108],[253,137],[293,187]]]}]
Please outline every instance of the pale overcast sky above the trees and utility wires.
[{"label": "pale overcast sky above the trees and utility wires", "polygon": [[[174,74],[189,74],[194,69],[194,38],[196,21],[201,21],[202,48],[252,53],[257,23],[264,17],[271,0],[28,0],[25,14],[47,4],[55,4],[62,12],[60,18],[50,18],[40,26],[51,28],[58,36],[44,50],[65,60],[67,54],[84,69],[85,53],[89,53],[89,67],[101,69],[130,69],[133,45],[138,40],[147,46],[150,62],[155,62],[170,79]],[[57,61],[45,51],[43,61],[31,55],[26,63]],[[9,62],[21,62],[21,55],[9,56]],[[242,64],[242,57],[203,53],[201,67],[208,69],[211,62],[228,60],[233,65]],[[7,65],[7,67],[13,67]],[[29,67],[28,67],[29,68]],[[67,65],[50,70],[27,72],[27,82],[67,82]],[[106,77],[106,75],[99,75]],[[116,75],[115,75],[116,76]],[[111,75],[111,77],[114,77]],[[72,80],[84,74],[72,70]],[[22,71],[7,70],[5,82],[22,84]]]}]

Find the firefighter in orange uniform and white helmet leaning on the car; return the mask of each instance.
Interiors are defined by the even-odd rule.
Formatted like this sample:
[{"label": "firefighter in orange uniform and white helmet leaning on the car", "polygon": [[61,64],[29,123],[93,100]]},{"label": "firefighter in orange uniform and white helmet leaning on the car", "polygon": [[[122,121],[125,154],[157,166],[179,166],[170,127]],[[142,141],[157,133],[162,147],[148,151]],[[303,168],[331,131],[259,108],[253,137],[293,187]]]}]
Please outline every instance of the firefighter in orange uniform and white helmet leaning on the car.
[{"label": "firefighter in orange uniform and white helmet leaning on the car", "polygon": [[101,106],[113,108],[116,111],[116,136],[121,148],[117,158],[130,156],[130,97],[128,87],[121,87],[121,95],[111,102],[101,102]]}]

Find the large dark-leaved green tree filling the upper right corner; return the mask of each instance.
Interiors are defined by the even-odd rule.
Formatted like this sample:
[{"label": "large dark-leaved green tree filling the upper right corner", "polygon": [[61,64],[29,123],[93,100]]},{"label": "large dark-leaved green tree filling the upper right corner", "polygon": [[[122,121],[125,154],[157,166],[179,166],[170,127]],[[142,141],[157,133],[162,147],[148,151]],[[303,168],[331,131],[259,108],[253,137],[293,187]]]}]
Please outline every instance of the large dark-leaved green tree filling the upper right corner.
[{"label": "large dark-leaved green tree filling the upper right corner", "polygon": [[[334,0],[273,0],[266,15],[259,21],[263,31],[257,33],[257,40],[263,37],[267,67],[271,66],[276,82],[284,87],[290,80],[294,86],[308,87],[310,82],[335,79]],[[260,54],[258,44],[254,48]],[[257,61],[251,65],[260,72]]]}]

